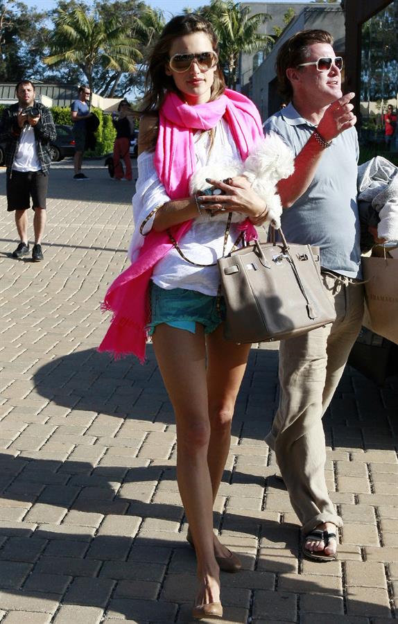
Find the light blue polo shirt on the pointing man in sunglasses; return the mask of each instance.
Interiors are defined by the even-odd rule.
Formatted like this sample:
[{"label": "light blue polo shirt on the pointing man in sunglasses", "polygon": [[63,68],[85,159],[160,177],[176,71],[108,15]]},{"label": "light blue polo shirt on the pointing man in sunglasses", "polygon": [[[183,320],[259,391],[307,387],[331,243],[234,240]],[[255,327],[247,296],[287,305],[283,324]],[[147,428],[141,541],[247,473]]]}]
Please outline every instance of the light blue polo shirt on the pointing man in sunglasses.
[{"label": "light blue polo shirt on the pointing man in sunglasses", "polygon": [[[301,117],[290,103],[270,116],[264,129],[276,132],[297,156],[315,125]],[[356,130],[349,128],[323,150],[309,188],[282,214],[282,229],[289,242],[317,245],[323,268],[354,278],[361,277],[358,155]]]}]

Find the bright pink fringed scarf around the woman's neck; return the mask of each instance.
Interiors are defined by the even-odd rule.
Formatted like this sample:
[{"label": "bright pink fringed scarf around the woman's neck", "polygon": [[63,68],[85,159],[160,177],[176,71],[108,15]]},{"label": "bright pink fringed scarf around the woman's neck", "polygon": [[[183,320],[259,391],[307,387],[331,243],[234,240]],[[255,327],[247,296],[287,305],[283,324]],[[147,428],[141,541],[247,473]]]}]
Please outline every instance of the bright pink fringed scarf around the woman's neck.
[{"label": "bright pink fringed scarf around the woman's neck", "polygon": [[[172,200],[189,196],[189,177],[195,168],[193,132],[214,128],[224,115],[241,157],[245,159],[256,141],[263,137],[259,112],[248,98],[225,89],[215,101],[189,106],[174,93],[166,96],[159,112],[154,162],[159,180]],[[180,241],[191,223],[189,220],[171,228],[176,241]],[[244,227],[247,229],[246,225]],[[115,357],[133,353],[144,363],[146,326],[150,322],[150,277],[155,264],[172,248],[167,232],[152,229],[137,260],[112,282],[101,307],[112,310],[113,317],[98,347],[99,352],[109,351]]]}]

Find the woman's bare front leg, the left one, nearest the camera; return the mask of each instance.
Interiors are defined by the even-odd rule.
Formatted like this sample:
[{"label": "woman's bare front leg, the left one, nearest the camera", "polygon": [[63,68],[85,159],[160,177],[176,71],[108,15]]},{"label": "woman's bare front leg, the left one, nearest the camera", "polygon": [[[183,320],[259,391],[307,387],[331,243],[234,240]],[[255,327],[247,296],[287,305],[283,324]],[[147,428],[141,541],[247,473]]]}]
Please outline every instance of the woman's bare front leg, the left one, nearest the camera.
[{"label": "woman's bare front leg, the left one, nearest the camera", "polygon": [[213,545],[213,492],[207,450],[206,352],[202,325],[196,333],[157,326],[153,346],[177,424],[177,479],[195,541],[199,589],[196,604],[220,600],[219,569]]}]

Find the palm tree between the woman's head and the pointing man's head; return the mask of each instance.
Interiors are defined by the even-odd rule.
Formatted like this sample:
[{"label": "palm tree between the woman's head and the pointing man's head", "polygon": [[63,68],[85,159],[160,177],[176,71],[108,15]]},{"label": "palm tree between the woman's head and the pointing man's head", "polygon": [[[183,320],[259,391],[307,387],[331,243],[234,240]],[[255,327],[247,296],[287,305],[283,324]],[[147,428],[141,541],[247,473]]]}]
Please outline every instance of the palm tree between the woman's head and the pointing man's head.
[{"label": "palm tree between the woman's head and the pointing man's head", "polygon": [[209,19],[216,31],[227,85],[234,89],[240,53],[252,54],[273,43],[271,35],[257,32],[270,16],[266,13],[250,15],[249,6],[233,0],[211,0],[210,6],[203,8],[202,15]]}]

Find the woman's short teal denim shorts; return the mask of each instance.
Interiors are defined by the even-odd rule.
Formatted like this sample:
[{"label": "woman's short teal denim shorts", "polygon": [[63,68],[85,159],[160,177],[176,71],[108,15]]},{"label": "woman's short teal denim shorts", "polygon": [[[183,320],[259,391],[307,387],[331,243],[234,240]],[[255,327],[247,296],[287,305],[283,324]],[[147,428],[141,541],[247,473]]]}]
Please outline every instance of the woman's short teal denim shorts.
[{"label": "woman's short teal denim shorts", "polygon": [[195,333],[196,323],[205,327],[205,333],[211,333],[225,320],[225,302],[220,298],[219,310],[217,297],[202,295],[186,288],[159,288],[150,286],[150,323],[147,329],[152,336],[155,327],[166,323],[170,327],[185,329]]}]

